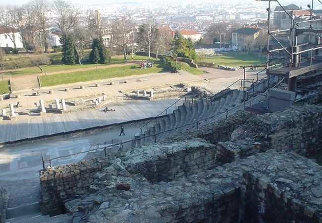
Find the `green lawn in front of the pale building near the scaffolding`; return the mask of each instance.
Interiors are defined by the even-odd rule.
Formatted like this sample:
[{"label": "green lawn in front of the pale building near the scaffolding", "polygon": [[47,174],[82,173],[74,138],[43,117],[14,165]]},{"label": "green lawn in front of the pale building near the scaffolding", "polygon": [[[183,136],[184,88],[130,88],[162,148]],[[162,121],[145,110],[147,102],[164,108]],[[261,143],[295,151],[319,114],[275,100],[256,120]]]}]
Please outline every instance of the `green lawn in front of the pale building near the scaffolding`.
[{"label": "green lawn in front of the pale building near the scaffolding", "polygon": [[225,66],[249,66],[256,63],[265,63],[266,59],[258,58],[258,55],[252,55],[245,52],[230,52],[222,56],[204,56],[199,58],[200,62],[215,63]]}]

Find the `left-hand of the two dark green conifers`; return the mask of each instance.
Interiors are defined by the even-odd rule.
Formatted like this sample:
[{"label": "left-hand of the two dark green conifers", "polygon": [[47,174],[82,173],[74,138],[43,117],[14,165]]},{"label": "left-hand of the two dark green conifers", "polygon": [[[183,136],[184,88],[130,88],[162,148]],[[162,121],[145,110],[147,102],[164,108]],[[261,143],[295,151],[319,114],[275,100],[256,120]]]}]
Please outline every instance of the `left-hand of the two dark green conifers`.
[{"label": "left-hand of the two dark green conifers", "polygon": [[62,43],[62,62],[64,64],[75,64],[77,60],[77,52],[75,42],[71,34],[65,34],[61,37]]}]

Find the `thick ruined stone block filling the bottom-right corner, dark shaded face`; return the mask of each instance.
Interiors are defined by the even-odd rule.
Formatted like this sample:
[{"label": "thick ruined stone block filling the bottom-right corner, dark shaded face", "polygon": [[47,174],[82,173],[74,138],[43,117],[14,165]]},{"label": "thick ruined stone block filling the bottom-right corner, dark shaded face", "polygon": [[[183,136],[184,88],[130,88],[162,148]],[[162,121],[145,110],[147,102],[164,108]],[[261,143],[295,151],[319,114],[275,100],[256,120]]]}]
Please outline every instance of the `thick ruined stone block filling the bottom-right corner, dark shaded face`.
[{"label": "thick ruined stone block filling the bottom-right corner, dark shaded face", "polygon": [[278,166],[283,169],[272,160],[267,168],[244,171],[242,223],[322,221],[321,167],[296,154],[285,156],[282,162],[286,164]]}]

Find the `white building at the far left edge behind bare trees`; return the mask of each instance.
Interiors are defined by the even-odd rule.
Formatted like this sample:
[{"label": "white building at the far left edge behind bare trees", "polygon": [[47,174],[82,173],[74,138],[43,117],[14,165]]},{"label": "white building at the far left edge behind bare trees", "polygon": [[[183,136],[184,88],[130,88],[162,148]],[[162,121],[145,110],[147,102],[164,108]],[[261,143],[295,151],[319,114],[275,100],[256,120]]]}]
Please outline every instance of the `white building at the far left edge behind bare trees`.
[{"label": "white building at the far left edge behind bare trees", "polygon": [[0,47],[14,48],[12,40],[15,40],[16,48],[23,48],[19,32],[16,32],[13,28],[0,27]]}]

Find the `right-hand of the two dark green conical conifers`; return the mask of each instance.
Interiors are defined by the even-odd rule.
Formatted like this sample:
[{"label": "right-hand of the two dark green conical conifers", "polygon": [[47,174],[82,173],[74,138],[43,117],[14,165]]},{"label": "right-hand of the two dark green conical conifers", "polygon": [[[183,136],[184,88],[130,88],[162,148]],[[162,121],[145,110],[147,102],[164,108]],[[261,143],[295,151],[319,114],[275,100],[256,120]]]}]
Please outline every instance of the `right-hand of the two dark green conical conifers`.
[{"label": "right-hand of the two dark green conical conifers", "polygon": [[90,61],[92,63],[100,62],[102,64],[110,62],[109,52],[107,51],[107,48],[104,46],[103,39],[101,36],[93,40],[92,51],[90,53]]}]

